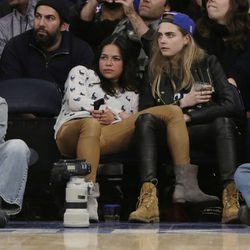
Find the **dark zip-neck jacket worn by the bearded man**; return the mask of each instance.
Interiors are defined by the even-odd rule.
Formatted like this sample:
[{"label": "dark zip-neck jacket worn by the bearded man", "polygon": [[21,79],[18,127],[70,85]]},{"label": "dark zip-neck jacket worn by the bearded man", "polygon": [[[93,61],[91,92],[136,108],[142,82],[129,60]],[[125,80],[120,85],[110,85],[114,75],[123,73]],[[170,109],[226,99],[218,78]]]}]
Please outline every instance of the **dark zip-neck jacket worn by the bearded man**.
[{"label": "dark zip-neck jacket worn by the bearded man", "polygon": [[55,82],[63,90],[74,66],[92,65],[92,49],[70,32],[63,32],[60,47],[49,53],[36,46],[32,34],[33,30],[29,30],[6,44],[0,61],[1,79],[43,79]]}]

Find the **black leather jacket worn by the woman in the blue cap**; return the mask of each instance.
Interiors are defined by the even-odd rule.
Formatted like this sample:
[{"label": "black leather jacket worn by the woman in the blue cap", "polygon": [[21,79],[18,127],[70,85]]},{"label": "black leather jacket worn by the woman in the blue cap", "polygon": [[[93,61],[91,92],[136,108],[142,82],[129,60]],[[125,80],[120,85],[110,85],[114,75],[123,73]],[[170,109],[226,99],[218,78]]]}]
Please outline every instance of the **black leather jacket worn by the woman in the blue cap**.
[{"label": "black leather jacket worn by the woman in the blue cap", "polygon": [[[191,116],[192,122],[210,122],[217,117],[233,117],[239,110],[234,103],[234,93],[232,86],[228,83],[225,73],[215,56],[206,56],[200,63],[193,65],[192,74],[195,81],[212,82],[215,92],[212,100],[201,107],[191,107],[184,109],[184,113]],[[150,77],[149,77],[150,78]],[[140,94],[139,108],[173,104],[176,98],[182,98],[190,89],[183,89],[179,93],[174,93],[170,79],[163,75],[160,84],[161,99],[154,99],[151,93],[150,80],[146,80],[147,86]]]}]

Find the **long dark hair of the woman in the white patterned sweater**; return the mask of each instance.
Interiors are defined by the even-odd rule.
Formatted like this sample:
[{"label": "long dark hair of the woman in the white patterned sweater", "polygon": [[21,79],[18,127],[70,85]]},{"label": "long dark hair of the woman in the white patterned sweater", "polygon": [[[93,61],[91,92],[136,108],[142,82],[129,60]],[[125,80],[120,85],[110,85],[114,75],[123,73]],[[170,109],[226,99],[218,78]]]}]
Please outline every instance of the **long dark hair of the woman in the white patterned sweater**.
[{"label": "long dark hair of the woman in the white patterned sweater", "polygon": [[100,77],[101,88],[103,89],[103,91],[105,91],[111,96],[116,95],[116,90],[113,87],[113,83],[110,80],[106,79],[101,74],[99,69],[99,59],[102,54],[103,48],[109,44],[114,44],[119,48],[123,60],[123,71],[118,81],[119,87],[122,89],[122,91],[137,91],[138,85],[136,82],[136,59],[131,53],[128,41],[126,41],[125,38],[116,34],[104,39],[96,53],[95,71]]}]

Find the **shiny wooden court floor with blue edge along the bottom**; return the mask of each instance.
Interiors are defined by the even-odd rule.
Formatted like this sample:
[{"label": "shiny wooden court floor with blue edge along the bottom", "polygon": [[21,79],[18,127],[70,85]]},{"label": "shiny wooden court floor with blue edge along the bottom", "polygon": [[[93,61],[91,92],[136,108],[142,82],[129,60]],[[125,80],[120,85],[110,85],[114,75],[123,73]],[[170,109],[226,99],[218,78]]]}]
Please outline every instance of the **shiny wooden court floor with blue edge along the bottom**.
[{"label": "shiny wooden court floor with blue edge along the bottom", "polygon": [[220,223],[99,223],[64,228],[58,221],[10,222],[0,250],[249,250],[250,227]]}]

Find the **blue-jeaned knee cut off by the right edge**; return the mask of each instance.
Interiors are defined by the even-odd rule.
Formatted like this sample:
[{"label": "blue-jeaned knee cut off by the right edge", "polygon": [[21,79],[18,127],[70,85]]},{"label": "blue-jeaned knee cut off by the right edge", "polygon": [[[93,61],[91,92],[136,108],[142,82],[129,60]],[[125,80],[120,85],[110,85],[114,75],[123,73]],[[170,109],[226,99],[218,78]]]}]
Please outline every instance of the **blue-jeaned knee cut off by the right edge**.
[{"label": "blue-jeaned knee cut off by the right edge", "polygon": [[250,208],[250,163],[245,163],[238,167],[234,174],[234,180],[237,188],[246,200],[247,206]]}]

